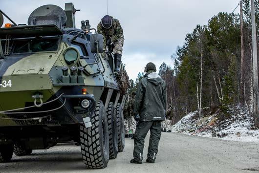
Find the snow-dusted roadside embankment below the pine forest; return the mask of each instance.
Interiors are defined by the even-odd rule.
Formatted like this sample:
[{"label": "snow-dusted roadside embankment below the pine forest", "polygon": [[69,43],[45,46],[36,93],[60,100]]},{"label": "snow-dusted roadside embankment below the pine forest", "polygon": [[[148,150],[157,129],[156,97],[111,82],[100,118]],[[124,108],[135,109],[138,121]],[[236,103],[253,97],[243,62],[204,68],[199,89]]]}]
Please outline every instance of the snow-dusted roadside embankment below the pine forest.
[{"label": "snow-dusted roadside embankment below the pine forest", "polygon": [[197,111],[191,112],[173,125],[172,131],[225,140],[259,142],[259,129],[255,127],[249,111],[240,107],[229,109],[224,118],[219,109],[204,113],[201,117]]}]

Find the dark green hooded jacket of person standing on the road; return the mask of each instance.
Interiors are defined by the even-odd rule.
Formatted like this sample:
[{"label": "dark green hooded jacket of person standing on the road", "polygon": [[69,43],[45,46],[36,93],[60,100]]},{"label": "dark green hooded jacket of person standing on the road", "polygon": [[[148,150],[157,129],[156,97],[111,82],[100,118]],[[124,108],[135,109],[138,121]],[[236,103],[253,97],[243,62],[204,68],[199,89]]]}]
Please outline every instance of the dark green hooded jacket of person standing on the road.
[{"label": "dark green hooded jacket of person standing on the road", "polygon": [[140,121],[166,119],[166,84],[154,71],[148,71],[138,84],[133,113]]}]

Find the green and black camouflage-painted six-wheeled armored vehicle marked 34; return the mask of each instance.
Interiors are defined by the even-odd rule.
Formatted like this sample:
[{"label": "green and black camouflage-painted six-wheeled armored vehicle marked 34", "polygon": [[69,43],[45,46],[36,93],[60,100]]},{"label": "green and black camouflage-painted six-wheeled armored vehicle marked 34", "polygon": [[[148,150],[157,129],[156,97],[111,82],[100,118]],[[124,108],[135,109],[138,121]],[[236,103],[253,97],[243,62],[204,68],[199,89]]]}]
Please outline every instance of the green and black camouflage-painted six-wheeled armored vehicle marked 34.
[{"label": "green and black camouflage-painted six-wheeled armored vehicle marked 34", "polygon": [[86,168],[98,169],[123,151],[127,85],[103,36],[87,20],[75,28],[76,11],[43,5],[28,25],[5,27],[0,11],[0,162],[74,141]]}]

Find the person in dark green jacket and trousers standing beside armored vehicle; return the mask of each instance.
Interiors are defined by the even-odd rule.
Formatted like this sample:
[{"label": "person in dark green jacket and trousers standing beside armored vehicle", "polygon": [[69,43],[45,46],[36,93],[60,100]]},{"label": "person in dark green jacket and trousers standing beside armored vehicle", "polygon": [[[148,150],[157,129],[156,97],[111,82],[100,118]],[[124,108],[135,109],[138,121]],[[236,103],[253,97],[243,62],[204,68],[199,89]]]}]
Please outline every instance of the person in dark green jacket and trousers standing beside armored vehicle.
[{"label": "person in dark green jacket and trousers standing beside armored vehicle", "polygon": [[134,136],[133,159],[130,163],[141,164],[145,137],[150,130],[150,143],[147,162],[154,163],[161,137],[161,121],[164,121],[167,107],[166,84],[155,73],[153,63],[145,67],[147,72],[138,84],[133,113],[138,121]]}]

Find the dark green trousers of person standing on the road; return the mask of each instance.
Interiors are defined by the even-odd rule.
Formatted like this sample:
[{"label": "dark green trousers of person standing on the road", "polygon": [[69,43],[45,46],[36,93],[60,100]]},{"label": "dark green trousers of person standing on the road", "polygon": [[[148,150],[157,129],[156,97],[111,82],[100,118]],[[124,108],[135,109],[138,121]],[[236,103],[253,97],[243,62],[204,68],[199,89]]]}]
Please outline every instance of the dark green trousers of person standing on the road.
[{"label": "dark green trousers of person standing on the road", "polygon": [[148,158],[155,160],[158,151],[158,143],[161,137],[161,121],[139,121],[134,136],[133,157],[143,160],[145,137],[150,130]]}]

